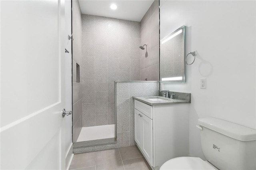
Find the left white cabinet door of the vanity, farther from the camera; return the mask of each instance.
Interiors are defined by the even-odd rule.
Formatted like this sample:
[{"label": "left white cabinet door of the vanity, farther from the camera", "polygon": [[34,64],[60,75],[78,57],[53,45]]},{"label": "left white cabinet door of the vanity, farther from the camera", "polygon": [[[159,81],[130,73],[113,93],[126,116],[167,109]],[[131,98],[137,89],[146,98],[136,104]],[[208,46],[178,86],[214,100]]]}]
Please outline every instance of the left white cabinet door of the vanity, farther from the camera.
[{"label": "left white cabinet door of the vanity, farther from the camera", "polygon": [[142,149],[142,113],[137,109],[134,109],[134,140],[138,146]]}]

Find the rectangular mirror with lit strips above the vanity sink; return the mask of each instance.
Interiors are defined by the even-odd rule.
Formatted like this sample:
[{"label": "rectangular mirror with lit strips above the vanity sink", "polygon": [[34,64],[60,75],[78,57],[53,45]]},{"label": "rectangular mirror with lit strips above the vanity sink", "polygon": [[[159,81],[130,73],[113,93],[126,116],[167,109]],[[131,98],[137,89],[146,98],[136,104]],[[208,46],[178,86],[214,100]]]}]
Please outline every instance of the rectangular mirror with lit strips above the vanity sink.
[{"label": "rectangular mirror with lit strips above the vanity sink", "polygon": [[160,82],[186,82],[186,26],[160,40]]}]

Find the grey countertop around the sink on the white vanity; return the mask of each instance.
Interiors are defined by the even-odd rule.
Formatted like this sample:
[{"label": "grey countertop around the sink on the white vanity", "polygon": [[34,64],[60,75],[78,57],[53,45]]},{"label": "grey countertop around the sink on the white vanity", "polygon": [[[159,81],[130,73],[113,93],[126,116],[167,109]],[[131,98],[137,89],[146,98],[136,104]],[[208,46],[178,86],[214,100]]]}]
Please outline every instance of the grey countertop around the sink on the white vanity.
[{"label": "grey countertop around the sink on the white vanity", "polygon": [[[170,99],[168,97],[162,97],[162,96],[145,96],[145,97],[132,97],[132,98],[136,99],[138,101],[141,101],[143,103],[146,103],[147,105],[150,105],[150,106],[191,103],[189,100]],[[161,101],[152,101],[149,99],[162,99],[162,100]]]}]

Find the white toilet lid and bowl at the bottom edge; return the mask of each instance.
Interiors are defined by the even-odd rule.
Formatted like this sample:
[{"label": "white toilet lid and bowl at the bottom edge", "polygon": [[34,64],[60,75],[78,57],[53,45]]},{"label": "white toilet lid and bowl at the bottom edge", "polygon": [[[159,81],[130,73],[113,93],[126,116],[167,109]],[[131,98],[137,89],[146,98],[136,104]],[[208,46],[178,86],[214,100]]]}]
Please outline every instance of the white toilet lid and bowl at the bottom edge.
[{"label": "white toilet lid and bowl at the bottom edge", "polygon": [[197,157],[177,157],[166,161],[160,170],[218,170],[209,162]]}]

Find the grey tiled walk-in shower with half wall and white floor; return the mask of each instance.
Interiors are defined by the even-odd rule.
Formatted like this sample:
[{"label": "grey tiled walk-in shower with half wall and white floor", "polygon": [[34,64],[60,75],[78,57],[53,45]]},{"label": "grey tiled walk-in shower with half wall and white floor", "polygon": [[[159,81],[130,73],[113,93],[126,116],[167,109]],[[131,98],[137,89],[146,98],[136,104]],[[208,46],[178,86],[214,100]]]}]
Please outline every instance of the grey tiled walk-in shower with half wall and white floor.
[{"label": "grey tiled walk-in shower with half wall and white floor", "polygon": [[[79,98],[79,102],[73,105],[73,122],[76,121],[73,126],[73,142],[78,142],[74,146],[74,153],[134,145],[133,114],[126,114],[133,113],[130,107],[134,101],[132,96],[120,94],[123,91],[134,95],[140,95],[142,91],[145,95],[158,93],[158,0],[154,1],[141,22],[81,14],[78,9],[79,2],[74,2],[74,5],[78,6],[73,7],[73,77],[75,63],[80,65],[80,83],[73,82],[73,98],[76,95]],[[81,20],[78,21],[79,17],[75,15],[80,15]],[[148,44],[147,58],[146,50],[139,48],[144,43]],[[145,77],[156,81],[147,83],[144,81]],[[141,80],[144,82],[136,82]],[[121,91],[115,90],[115,81],[118,88],[118,83],[128,86]],[[154,92],[148,91],[150,88]],[[127,101],[120,103],[122,100],[119,99]],[[128,110],[118,110],[127,102],[130,103]],[[104,130],[99,130],[100,128]],[[83,139],[87,141],[85,136],[88,136],[84,132],[106,134],[106,129],[110,129],[110,133],[114,130],[113,138],[116,137],[116,142],[98,148],[87,145],[88,142],[83,145]],[[106,138],[104,136],[102,135],[102,138]],[[92,138],[89,137],[88,140]]]}]

